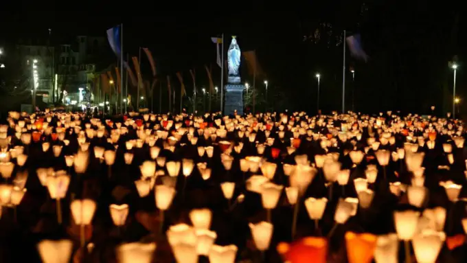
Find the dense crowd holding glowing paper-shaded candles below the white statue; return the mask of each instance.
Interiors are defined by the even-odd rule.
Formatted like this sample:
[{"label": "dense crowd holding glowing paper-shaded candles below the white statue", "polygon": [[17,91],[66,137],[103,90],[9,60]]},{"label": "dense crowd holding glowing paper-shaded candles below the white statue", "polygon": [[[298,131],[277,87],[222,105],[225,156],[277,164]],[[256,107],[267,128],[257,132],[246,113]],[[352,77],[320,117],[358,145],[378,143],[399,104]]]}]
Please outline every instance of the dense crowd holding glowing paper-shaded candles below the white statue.
[{"label": "dense crowd holding glowing paper-shaded candles below the white statue", "polygon": [[10,112],[0,262],[466,262],[464,124]]}]

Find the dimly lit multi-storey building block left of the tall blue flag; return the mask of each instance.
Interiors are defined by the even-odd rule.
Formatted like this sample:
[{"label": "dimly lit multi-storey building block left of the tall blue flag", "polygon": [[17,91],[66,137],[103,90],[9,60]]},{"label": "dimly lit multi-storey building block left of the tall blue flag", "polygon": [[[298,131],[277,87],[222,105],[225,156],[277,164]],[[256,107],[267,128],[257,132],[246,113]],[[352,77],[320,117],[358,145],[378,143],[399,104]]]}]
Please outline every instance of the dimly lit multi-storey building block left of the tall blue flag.
[{"label": "dimly lit multi-storey building block left of the tall blue flag", "polygon": [[[66,105],[91,102],[95,61],[106,49],[106,38],[76,36],[54,42],[20,40],[16,45],[23,70],[29,71],[31,76],[33,73],[38,76],[37,98],[42,97],[47,104],[59,100]],[[37,60],[36,69],[32,69],[34,60]]]}]

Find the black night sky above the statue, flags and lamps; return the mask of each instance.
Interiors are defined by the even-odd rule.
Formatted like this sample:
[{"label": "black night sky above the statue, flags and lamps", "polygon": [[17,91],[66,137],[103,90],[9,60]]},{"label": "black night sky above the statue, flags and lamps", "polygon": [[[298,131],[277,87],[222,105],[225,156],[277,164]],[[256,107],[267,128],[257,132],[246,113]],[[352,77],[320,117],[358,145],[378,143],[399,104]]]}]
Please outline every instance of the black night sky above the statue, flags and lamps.
[{"label": "black night sky above the statue, flags and lamps", "polygon": [[[124,51],[137,55],[139,46],[149,47],[161,74],[182,71],[187,78],[188,69],[202,71],[203,65],[212,64],[217,78],[216,51],[209,37],[234,34],[242,51],[257,51],[266,72],[266,77],[258,77],[258,89],[263,89],[262,80],[267,78],[271,90],[282,91],[282,106],[315,111],[315,73],[319,71],[323,76],[321,107],[331,111],[341,108],[341,46],[323,49],[302,41],[304,34],[312,34],[319,23],[330,23],[334,34],[344,29],[361,33],[370,56],[366,63],[347,57],[348,67],[356,70],[354,83],[347,72],[347,87],[349,96],[355,87],[357,111],[426,113],[431,105],[436,105],[440,113],[448,111],[453,86],[448,61],[455,55],[459,64],[457,94],[467,104],[467,39],[462,33],[467,30],[467,16],[460,1],[264,3],[15,1],[0,10],[0,43],[20,36],[47,35],[49,27],[60,36],[104,36],[107,28],[124,23]],[[367,7],[364,16],[363,3]],[[252,82],[244,69],[242,79]],[[349,97],[349,105],[351,100]],[[463,108],[467,111],[467,106],[461,105],[461,111]]]}]

